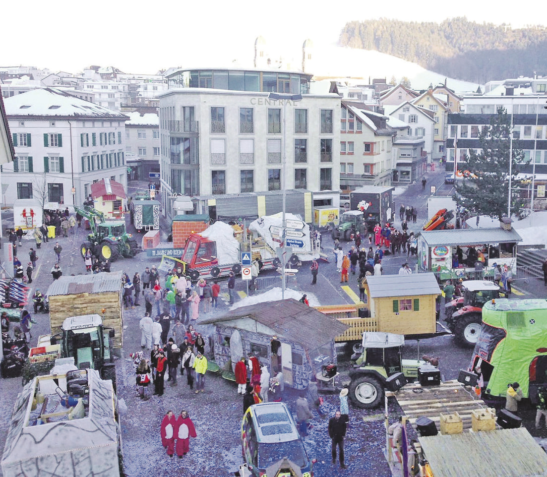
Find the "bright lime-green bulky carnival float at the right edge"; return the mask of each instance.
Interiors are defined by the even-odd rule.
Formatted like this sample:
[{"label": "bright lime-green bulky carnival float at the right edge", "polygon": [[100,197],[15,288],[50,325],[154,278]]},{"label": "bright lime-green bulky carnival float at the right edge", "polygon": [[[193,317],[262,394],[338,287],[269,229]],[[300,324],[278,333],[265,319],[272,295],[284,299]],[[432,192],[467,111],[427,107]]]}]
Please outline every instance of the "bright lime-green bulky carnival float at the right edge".
[{"label": "bright lime-green bulky carnival float at the right edge", "polygon": [[505,397],[508,383],[536,402],[547,387],[547,300],[499,298],[482,307],[482,327],[469,363],[480,369],[486,394]]}]

